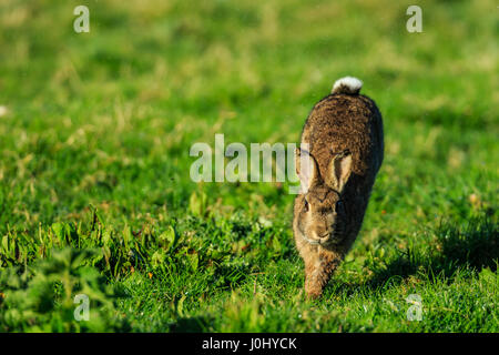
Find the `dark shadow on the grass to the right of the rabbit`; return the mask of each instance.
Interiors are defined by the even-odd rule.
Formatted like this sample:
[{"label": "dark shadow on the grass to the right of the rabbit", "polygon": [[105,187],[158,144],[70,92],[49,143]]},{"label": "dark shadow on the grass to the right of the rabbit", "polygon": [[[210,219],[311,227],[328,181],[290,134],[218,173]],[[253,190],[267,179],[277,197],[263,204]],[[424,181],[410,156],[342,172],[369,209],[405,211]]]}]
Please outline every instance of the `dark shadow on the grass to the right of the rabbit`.
[{"label": "dark shadow on the grass to the right of the rabbit", "polygon": [[434,248],[407,248],[385,265],[375,267],[374,275],[361,287],[377,290],[398,284],[411,275],[442,275],[452,278],[459,270],[497,271],[499,229],[489,217],[470,220],[465,226],[441,225],[436,231]]}]

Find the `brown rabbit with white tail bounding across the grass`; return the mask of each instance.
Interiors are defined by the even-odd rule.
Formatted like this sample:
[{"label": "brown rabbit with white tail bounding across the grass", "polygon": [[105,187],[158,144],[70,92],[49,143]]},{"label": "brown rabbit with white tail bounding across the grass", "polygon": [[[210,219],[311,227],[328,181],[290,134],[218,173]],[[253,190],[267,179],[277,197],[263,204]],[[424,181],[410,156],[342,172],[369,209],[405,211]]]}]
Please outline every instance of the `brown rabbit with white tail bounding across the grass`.
[{"label": "brown rabbit with white tail bounding across the grass", "polygon": [[384,156],[383,120],[360,95],[361,81],[343,78],[312,110],[296,150],[302,193],[293,231],[305,262],[305,292],[318,297],[354,243]]}]

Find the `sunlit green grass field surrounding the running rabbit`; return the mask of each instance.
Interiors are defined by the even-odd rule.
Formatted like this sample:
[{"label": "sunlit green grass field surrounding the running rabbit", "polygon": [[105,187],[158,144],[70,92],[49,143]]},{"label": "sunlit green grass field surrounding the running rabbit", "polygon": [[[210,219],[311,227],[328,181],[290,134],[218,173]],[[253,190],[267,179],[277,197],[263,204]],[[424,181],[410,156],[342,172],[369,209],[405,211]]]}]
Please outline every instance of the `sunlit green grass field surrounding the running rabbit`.
[{"label": "sunlit green grass field surrounding the running rabbit", "polygon": [[[0,332],[498,332],[497,4],[418,3],[2,1]],[[286,185],[196,185],[189,150],[297,142],[346,74],[385,162],[307,301]]]}]

